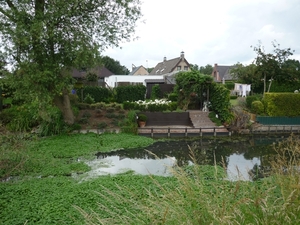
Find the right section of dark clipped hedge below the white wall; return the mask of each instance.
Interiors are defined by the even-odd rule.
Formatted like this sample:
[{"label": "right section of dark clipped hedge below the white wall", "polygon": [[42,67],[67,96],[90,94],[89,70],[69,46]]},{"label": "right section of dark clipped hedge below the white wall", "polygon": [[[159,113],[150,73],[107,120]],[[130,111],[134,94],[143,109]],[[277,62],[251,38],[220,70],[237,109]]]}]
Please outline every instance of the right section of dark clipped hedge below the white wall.
[{"label": "right section of dark clipped hedge below the white wall", "polygon": [[145,99],[146,87],[144,85],[128,85],[115,88],[116,101],[123,103],[125,101],[138,101]]}]

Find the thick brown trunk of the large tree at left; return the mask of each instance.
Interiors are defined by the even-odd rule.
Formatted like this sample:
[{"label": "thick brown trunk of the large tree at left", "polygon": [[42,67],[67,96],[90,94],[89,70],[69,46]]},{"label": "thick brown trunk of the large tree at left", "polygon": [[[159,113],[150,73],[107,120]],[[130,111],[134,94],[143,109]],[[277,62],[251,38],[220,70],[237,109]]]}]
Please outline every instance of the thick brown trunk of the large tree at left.
[{"label": "thick brown trunk of the large tree at left", "polygon": [[74,124],[75,118],[71,108],[68,91],[64,90],[61,96],[56,96],[54,98],[54,103],[62,112],[64,121],[69,125]]}]

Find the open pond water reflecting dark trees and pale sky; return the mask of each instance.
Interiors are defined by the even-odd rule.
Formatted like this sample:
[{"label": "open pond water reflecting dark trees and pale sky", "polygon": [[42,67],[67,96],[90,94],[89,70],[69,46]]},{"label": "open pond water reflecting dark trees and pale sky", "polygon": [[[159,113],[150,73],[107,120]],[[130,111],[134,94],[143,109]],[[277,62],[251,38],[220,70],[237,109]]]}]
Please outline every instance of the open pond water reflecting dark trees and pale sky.
[{"label": "open pond water reflecting dark trees and pale sky", "polygon": [[91,171],[86,177],[130,170],[136,174],[170,176],[170,167],[196,162],[199,165],[216,163],[226,168],[228,179],[231,180],[251,180],[249,170],[259,165],[268,166],[268,159],[274,154],[272,143],[284,138],[286,137],[157,141],[146,148],[98,153],[94,160],[87,162]]}]

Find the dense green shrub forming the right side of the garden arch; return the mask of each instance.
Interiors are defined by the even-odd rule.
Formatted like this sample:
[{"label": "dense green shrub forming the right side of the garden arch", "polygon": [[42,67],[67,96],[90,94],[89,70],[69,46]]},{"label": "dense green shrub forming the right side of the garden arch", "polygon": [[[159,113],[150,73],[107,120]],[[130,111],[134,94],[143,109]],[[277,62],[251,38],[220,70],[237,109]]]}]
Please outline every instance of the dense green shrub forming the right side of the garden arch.
[{"label": "dense green shrub forming the right side of the garden arch", "polygon": [[222,122],[230,122],[233,119],[230,111],[230,91],[224,85],[213,83],[209,92],[212,110]]}]

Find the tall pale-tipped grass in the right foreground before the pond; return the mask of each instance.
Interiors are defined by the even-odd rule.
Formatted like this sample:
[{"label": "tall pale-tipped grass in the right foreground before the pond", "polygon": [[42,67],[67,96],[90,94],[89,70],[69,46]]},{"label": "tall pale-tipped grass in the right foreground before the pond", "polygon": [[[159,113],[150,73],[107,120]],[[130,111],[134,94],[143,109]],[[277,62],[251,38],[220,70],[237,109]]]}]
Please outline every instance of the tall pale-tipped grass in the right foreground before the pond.
[{"label": "tall pale-tipped grass in the right foreground before the pond", "polygon": [[292,135],[274,148],[271,176],[264,179],[229,181],[217,165],[173,166],[170,183],[152,177],[156,188],[100,193],[113,199],[100,204],[109,217],[77,209],[87,224],[300,224],[300,140]]}]

